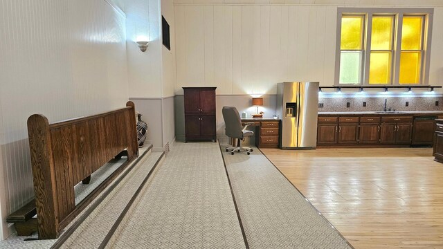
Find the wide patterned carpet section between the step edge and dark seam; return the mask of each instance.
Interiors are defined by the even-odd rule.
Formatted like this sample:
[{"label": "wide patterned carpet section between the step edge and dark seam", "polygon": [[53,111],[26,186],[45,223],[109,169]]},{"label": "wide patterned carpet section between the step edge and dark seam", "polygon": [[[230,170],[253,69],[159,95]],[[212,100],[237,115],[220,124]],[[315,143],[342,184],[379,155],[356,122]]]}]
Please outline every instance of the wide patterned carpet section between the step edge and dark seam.
[{"label": "wide patterned carpet section between the step edge and dark seam", "polygon": [[245,248],[216,142],[176,142],[111,248]]}]

